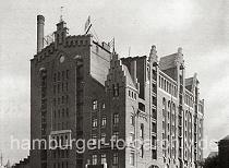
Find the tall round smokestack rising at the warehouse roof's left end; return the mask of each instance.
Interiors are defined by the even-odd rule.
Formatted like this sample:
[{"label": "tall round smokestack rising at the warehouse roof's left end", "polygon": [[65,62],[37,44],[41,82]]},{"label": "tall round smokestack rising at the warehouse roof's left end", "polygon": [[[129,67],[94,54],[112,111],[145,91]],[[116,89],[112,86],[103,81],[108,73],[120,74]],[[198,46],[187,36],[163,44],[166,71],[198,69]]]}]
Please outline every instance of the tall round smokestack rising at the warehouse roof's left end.
[{"label": "tall round smokestack rising at the warehouse roof's left end", "polygon": [[44,48],[44,25],[45,17],[37,15],[37,53]]}]

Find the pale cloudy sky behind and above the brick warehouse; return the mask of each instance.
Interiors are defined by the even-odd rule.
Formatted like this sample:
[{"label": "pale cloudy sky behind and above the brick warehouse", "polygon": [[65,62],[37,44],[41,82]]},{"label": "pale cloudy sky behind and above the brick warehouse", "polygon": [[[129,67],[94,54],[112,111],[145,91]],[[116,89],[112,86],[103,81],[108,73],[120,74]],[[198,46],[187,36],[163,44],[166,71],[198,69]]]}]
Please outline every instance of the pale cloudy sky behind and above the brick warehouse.
[{"label": "pale cloudy sky behind and above the brick warehouse", "polygon": [[[158,56],[183,48],[186,74],[197,72],[205,99],[204,135],[229,134],[228,0],[7,0],[0,7],[0,152],[17,161],[28,151],[10,151],[10,136],[29,139],[29,59],[36,52],[36,15],[46,17],[45,34],[63,19],[71,35],[83,34],[88,15],[99,40],[116,37],[124,57]],[[205,151],[205,156],[209,149]]]}]

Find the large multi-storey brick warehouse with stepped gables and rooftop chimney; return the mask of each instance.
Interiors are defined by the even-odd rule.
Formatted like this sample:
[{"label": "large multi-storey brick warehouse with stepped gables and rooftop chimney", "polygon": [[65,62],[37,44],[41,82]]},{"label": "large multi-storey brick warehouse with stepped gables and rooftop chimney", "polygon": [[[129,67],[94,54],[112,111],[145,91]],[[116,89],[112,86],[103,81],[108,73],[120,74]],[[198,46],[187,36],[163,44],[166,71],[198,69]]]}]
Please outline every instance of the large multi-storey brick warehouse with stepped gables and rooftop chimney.
[{"label": "large multi-storey brick warehouse with stepped gables and rooftop chimney", "polygon": [[[37,16],[37,55],[31,60],[31,137],[61,140],[67,149],[31,149],[34,168],[195,168],[203,159],[204,100],[198,80],[185,77],[182,49],[158,60],[119,58],[92,35],[68,35],[63,21],[44,47]],[[111,137],[140,140],[122,149]],[[103,140],[100,148],[71,149],[71,139]],[[152,147],[145,149],[145,140]]]}]

